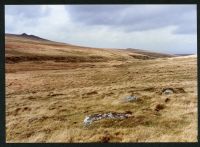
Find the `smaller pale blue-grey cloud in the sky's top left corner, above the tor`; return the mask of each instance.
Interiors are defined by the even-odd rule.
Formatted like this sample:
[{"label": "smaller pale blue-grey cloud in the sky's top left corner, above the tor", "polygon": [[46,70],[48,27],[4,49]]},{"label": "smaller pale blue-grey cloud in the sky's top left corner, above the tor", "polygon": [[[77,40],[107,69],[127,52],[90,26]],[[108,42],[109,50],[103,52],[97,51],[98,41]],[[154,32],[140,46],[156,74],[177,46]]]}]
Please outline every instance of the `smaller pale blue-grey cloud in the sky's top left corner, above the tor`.
[{"label": "smaller pale blue-grey cloud in the sky's top left corner, above the tor", "polygon": [[39,19],[48,16],[49,12],[49,9],[42,9],[41,5],[5,5],[5,29],[7,32],[16,32],[19,26],[36,28]]}]

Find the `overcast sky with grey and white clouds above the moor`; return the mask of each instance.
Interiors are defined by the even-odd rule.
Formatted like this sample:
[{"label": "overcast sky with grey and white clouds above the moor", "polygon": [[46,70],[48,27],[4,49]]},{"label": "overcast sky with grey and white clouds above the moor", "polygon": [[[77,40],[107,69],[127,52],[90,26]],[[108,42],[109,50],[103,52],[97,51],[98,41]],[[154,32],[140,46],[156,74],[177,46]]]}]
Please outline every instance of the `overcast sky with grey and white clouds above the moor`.
[{"label": "overcast sky with grey and white clouds above the moor", "polygon": [[197,53],[196,5],[6,5],[5,32],[98,48]]}]

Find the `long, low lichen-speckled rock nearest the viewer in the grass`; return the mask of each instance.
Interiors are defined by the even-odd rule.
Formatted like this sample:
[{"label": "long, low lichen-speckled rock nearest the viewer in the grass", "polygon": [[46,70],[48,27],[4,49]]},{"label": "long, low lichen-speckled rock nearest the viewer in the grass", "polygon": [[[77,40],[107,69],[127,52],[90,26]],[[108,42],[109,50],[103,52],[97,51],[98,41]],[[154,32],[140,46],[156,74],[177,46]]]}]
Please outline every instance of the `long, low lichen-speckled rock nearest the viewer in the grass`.
[{"label": "long, low lichen-speckled rock nearest the viewer in the grass", "polygon": [[109,112],[104,114],[93,114],[86,116],[83,123],[85,126],[92,124],[94,121],[101,119],[126,119],[132,114],[131,111],[126,111],[125,113]]}]

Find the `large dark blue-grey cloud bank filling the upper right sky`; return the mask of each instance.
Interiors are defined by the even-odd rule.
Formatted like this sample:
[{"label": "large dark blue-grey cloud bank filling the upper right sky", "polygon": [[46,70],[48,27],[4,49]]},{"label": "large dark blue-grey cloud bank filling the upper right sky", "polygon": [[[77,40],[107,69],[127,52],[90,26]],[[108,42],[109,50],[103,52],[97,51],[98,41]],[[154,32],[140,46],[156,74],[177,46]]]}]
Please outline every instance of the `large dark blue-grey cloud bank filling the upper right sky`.
[{"label": "large dark blue-grey cloud bank filling the upper right sky", "polygon": [[177,30],[174,33],[195,33],[195,8],[195,5],[82,5],[66,7],[73,21],[86,25],[118,27],[125,31],[145,31],[176,26]]}]

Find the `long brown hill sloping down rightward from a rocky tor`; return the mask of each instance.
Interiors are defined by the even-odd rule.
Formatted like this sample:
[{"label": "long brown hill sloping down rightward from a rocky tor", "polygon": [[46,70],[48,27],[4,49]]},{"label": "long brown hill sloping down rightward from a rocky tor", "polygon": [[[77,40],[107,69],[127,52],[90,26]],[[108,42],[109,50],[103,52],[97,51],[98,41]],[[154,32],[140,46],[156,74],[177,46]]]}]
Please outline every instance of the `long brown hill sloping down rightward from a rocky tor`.
[{"label": "long brown hill sloping down rightward from a rocky tor", "polygon": [[22,61],[106,62],[174,57],[138,49],[93,48],[60,43],[26,33],[5,34],[6,63]]}]

